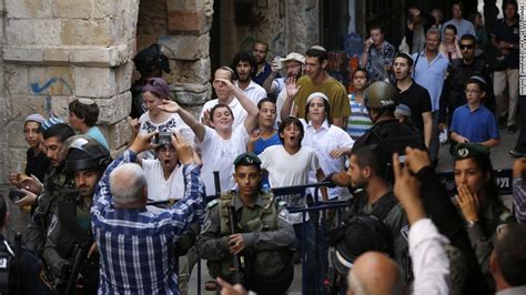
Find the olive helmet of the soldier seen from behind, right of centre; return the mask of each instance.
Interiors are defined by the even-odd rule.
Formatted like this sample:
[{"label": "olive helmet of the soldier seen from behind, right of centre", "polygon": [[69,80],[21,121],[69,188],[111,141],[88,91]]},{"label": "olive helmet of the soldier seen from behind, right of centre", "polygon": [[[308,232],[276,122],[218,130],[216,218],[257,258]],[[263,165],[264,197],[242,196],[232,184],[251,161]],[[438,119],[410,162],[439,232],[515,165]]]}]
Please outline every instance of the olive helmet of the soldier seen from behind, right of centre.
[{"label": "olive helmet of the soldier seen from behind, right of centre", "polygon": [[364,91],[364,104],[367,109],[394,109],[398,104],[398,91],[384,81],[372,83]]}]

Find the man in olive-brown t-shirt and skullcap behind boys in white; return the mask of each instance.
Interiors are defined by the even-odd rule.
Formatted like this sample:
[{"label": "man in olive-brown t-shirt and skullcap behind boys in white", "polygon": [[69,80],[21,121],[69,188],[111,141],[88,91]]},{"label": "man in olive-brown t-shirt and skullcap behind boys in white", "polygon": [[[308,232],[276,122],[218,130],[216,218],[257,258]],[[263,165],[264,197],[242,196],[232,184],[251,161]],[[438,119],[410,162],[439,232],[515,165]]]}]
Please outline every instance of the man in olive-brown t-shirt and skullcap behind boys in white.
[{"label": "man in olive-brown t-shirt and skullcap behind boys in white", "polygon": [[[345,130],[351,115],[351,104],[345,87],[326,71],[328,52],[320,45],[310,48],[305,53],[305,73],[301,79],[289,79],[287,95],[281,118],[289,115],[306,119],[306,99],[314,92],[322,92],[328,98],[333,124]],[[294,102],[294,105],[293,105]],[[291,113],[292,112],[292,113]]]}]

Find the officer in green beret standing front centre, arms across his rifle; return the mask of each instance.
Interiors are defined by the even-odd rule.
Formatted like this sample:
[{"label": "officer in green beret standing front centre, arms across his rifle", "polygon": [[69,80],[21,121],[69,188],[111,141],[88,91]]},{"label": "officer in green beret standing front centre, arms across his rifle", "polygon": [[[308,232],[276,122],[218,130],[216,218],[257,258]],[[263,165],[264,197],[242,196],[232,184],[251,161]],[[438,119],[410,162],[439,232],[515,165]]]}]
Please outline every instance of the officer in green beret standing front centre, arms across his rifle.
[{"label": "officer in green beret standing front centre, arms across his rifle", "polygon": [[[230,283],[240,283],[235,281],[241,277],[244,287],[257,294],[283,294],[294,275],[294,230],[284,204],[276,204],[272,193],[260,192],[260,165],[261,160],[251,152],[235,159],[239,189],[209,203],[198,250],[208,260],[212,277]],[[235,216],[229,215],[229,210]],[[232,268],[235,255],[243,257],[241,274]]]}]

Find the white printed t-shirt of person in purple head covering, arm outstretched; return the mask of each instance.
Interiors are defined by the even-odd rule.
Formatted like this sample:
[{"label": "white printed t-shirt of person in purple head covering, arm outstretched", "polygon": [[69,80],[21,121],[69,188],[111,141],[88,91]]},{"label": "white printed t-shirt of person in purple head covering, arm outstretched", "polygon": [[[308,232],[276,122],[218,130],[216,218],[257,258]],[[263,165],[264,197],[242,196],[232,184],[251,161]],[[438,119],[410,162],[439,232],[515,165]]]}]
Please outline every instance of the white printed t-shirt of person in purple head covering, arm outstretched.
[{"label": "white printed t-shirt of person in purple head covering, arm outstretched", "polygon": [[[150,119],[150,113],[145,112],[139,118],[139,122],[141,126],[139,129],[139,134],[150,133],[154,131],[159,132],[179,132],[181,133],[184,139],[192,143],[194,142],[195,134],[190,129],[186,123],[181,119],[181,116],[176,113],[172,113],[164,122],[155,124]],[[141,159],[154,159],[152,151],[144,151],[139,154]]]}]

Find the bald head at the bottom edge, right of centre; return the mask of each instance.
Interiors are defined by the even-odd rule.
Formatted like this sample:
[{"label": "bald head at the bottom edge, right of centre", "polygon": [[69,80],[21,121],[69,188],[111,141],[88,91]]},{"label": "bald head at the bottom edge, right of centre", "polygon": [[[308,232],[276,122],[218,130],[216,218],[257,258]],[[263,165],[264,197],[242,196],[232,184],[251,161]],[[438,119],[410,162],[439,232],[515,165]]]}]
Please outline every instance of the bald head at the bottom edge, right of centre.
[{"label": "bald head at the bottom edge, right of centre", "polygon": [[387,255],[366,252],[355,261],[348,274],[348,294],[402,294],[402,272]]}]

